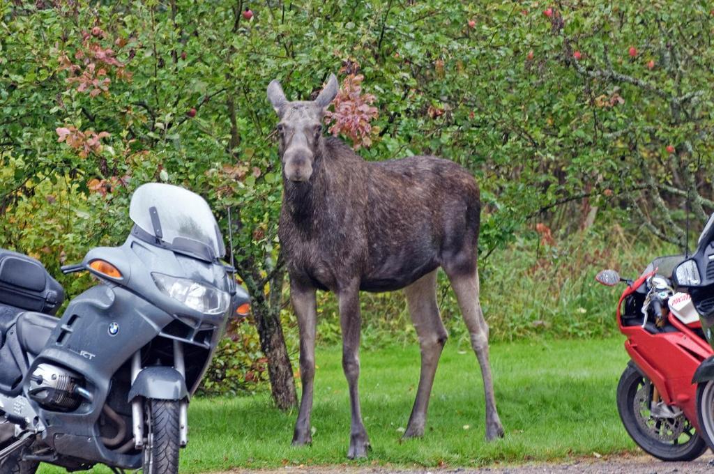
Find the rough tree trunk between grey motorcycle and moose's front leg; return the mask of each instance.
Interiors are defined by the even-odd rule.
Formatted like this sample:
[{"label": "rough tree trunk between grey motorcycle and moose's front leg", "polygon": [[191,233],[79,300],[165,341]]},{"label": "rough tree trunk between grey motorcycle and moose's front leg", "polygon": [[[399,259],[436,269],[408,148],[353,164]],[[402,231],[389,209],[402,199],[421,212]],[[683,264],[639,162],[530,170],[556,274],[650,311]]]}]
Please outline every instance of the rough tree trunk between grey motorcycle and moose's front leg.
[{"label": "rough tree trunk between grey motorcycle and moose's front leg", "polygon": [[263,300],[253,306],[253,317],[256,319],[258,336],[261,338],[261,349],[268,359],[268,376],[273,400],[278,408],[288,410],[298,403],[293,367],[283,338],[280,306],[268,307],[266,303]]}]

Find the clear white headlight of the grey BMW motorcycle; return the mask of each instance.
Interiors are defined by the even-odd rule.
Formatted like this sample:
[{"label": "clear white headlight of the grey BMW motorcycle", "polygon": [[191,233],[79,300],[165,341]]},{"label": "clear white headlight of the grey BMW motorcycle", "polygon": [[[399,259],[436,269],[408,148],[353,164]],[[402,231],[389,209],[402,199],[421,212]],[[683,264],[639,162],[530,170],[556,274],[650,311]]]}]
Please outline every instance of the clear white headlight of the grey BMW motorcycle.
[{"label": "clear white headlight of the grey BMW motorcycle", "polygon": [[231,304],[231,296],[213,286],[163,273],[151,273],[151,276],[159,290],[199,313],[225,313]]}]

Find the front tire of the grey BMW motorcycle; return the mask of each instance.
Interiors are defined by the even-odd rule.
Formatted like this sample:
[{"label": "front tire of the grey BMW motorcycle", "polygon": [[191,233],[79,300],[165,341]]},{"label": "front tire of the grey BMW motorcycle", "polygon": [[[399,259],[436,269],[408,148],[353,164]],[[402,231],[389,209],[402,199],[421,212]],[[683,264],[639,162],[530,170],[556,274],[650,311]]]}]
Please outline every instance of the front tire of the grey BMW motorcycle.
[{"label": "front tire of the grey BMW motorcycle", "polygon": [[146,400],[146,445],[144,474],[178,473],[180,403],[176,400]]}]

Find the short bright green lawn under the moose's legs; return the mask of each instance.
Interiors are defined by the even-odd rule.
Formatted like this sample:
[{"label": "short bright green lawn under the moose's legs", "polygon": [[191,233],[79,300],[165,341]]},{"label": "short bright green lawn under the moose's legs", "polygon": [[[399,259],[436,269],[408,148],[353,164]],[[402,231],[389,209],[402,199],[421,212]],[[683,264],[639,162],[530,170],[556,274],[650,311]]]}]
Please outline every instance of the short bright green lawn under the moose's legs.
[{"label": "short bright green lawn under the moose's legs", "polygon": [[[291,447],[296,413],[273,408],[267,393],[197,398],[181,472],[346,463],[349,408],[340,356],[339,348],[318,348],[312,446]],[[361,361],[362,410],[373,446],[361,463],[476,466],[635,448],[615,407],[627,362],[621,338],[494,344],[491,363],[506,430],[494,443],[484,441],[481,375],[468,346],[447,344],[426,435],[406,442],[400,436],[416,390],[418,348],[363,351]]]}]

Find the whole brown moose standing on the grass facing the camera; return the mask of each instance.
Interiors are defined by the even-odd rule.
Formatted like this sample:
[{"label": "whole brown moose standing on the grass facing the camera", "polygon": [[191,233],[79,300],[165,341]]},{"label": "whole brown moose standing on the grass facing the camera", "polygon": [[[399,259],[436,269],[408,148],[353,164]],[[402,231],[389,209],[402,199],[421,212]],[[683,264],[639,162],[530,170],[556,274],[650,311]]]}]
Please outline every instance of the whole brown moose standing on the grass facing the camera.
[{"label": "whole brown moose standing on the grass facing the camera", "polygon": [[447,339],[436,303],[438,267],[456,293],[481,365],[486,439],[503,437],[488,362],[488,325],[479,303],[476,180],[457,163],[435,156],[367,162],[338,138],[323,136],[323,114],[338,93],[334,74],[314,101],[288,101],[277,80],[267,92],[279,118],[283,202],[278,237],[300,333],[303,388],[293,445],[312,442],[318,289],[338,298],[351,405],[348,458],[364,458],[370,448],[358,393],[360,291],[404,290],[421,348],[421,374],[403,437],[423,435]]}]

